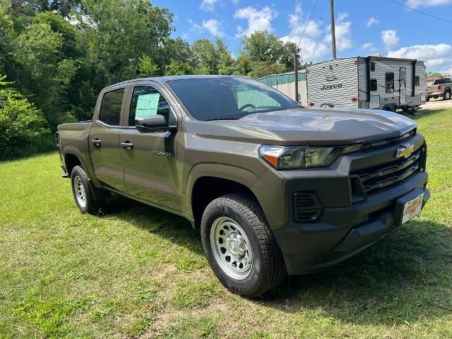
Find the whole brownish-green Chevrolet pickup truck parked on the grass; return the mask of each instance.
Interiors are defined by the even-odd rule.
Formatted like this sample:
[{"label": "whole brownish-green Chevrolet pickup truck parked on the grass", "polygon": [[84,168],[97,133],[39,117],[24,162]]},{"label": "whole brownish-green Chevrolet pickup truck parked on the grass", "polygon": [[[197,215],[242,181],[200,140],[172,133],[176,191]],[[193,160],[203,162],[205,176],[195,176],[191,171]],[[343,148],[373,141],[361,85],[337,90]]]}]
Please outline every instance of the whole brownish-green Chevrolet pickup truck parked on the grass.
[{"label": "whole brownish-green Chevrolet pickup truck parked on the grass", "polygon": [[250,78],[124,81],[92,121],[58,131],[82,213],[114,192],[182,215],[221,282],[249,297],[362,251],[429,198],[415,121],[302,108]]}]

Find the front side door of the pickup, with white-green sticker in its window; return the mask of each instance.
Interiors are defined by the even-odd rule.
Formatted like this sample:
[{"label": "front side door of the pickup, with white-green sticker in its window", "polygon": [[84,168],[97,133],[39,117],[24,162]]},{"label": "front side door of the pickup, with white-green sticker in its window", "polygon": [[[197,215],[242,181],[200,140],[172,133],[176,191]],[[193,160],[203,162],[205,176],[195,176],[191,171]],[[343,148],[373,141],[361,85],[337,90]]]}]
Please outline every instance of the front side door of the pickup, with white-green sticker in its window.
[{"label": "front side door of the pickup, with white-green sticker in its window", "polygon": [[[127,194],[181,210],[176,168],[176,132],[138,130],[135,117],[174,114],[157,85],[132,85],[119,136]],[[128,114],[127,114],[128,113]],[[172,119],[177,119],[173,116]],[[176,120],[177,121],[177,120]]]}]

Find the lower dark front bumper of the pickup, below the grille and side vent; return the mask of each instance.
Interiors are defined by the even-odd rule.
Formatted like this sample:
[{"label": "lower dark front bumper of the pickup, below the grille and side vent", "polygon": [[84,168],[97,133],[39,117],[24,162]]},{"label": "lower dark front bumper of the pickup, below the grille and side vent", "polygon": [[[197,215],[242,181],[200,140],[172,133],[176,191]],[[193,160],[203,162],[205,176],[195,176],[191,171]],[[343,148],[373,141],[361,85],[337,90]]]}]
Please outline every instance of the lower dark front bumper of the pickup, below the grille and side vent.
[{"label": "lower dark front bumper of the pickup, below the grille and side vent", "polygon": [[[379,241],[399,224],[396,201],[411,191],[424,191],[422,207],[429,199],[427,173],[416,174],[405,183],[346,208],[324,208],[315,222],[290,221],[273,230],[283,251],[287,273],[313,273],[345,260]],[[369,215],[367,222],[357,222]]]}]

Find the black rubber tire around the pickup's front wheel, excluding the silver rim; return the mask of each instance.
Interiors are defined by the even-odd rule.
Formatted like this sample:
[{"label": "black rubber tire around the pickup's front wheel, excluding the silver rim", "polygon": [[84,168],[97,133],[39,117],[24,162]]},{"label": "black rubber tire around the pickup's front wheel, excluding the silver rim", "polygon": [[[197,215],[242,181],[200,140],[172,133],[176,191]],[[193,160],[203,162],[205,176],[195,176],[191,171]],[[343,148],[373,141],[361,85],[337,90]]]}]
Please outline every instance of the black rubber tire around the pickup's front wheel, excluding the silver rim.
[{"label": "black rubber tire around the pickup's front wheel, excluding the silver rim", "polygon": [[[232,278],[215,261],[210,231],[213,222],[227,217],[242,227],[249,239],[253,255],[249,275],[237,280]],[[201,239],[210,267],[218,279],[232,292],[246,297],[258,297],[278,285],[286,275],[283,254],[273,237],[263,211],[251,196],[227,194],[210,202],[201,220]],[[234,260],[234,259],[233,259]]]}]

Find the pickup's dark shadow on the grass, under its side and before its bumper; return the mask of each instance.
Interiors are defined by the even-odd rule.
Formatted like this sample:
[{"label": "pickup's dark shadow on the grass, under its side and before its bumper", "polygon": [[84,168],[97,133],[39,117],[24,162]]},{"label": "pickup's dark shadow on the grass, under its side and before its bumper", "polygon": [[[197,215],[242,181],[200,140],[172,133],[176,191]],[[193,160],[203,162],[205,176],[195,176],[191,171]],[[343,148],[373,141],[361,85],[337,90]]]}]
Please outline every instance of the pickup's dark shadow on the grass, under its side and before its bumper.
[{"label": "pickup's dark shadow on the grass, under its side and before its bumper", "polygon": [[[184,218],[114,196],[116,218],[203,254],[199,231]],[[113,212],[114,211],[114,212]],[[258,305],[287,314],[318,311],[350,323],[410,323],[452,314],[452,230],[409,222],[388,237],[323,273],[289,277]]]}]

